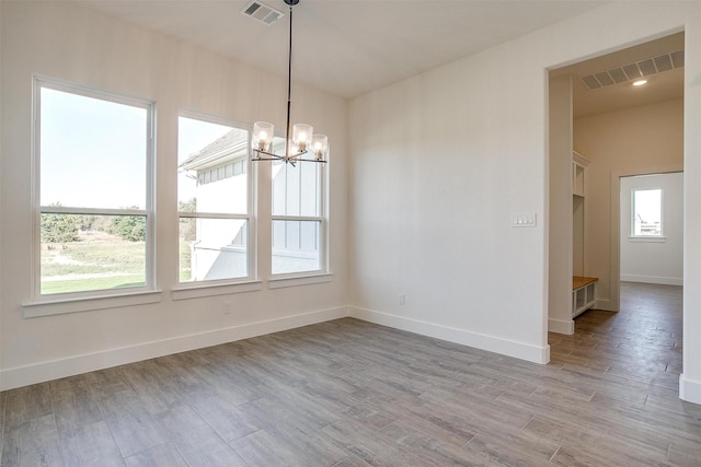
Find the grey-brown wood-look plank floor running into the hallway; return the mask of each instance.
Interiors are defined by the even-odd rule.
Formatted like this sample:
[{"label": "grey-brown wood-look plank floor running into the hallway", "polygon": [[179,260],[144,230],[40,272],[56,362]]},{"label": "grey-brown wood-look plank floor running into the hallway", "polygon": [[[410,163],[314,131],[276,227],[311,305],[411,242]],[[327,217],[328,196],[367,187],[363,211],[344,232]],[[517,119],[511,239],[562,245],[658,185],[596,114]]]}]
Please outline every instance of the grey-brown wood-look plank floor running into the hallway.
[{"label": "grey-brown wood-look plank floor running into the hallway", "polygon": [[2,466],[701,465],[681,289],[538,365],[345,318],[0,393]]}]

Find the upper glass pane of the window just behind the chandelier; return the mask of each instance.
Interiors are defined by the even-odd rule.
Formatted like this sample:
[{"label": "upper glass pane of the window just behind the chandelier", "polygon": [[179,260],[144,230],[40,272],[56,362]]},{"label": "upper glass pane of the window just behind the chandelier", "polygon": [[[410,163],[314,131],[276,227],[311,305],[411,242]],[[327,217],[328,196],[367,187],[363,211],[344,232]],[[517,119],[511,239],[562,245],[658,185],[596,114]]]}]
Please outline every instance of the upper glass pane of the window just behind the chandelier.
[{"label": "upper glass pane of the window just behind the chandelier", "polygon": [[320,215],[321,164],[273,164],[273,215]]}]

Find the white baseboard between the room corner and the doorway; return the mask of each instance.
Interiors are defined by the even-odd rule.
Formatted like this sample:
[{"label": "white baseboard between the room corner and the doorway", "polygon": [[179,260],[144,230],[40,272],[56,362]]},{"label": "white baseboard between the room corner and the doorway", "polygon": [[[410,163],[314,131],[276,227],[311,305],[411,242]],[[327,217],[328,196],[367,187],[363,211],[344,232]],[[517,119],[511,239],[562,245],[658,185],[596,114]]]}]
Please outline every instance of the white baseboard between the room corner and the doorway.
[{"label": "white baseboard between the room corner and the doorway", "polygon": [[348,313],[349,316],[357,319],[420,334],[422,336],[434,337],[436,339],[447,340],[449,342],[460,343],[476,349],[487,350],[503,355],[515,357],[529,362],[548,363],[550,361],[550,346],[531,346],[494,336],[471,332],[464,329],[354,306],[349,307]]}]

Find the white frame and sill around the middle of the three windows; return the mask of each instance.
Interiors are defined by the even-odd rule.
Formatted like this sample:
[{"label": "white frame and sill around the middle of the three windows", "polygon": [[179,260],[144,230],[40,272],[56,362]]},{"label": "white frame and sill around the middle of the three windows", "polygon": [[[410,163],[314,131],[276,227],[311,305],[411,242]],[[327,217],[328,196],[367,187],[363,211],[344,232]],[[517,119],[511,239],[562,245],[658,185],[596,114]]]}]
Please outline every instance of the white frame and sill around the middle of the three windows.
[{"label": "white frame and sill around the middle of the three windows", "polygon": [[[194,120],[200,120],[205,122],[226,125],[228,127],[245,130],[249,133],[246,148],[251,145],[251,135],[253,132],[253,126],[249,124],[242,124],[235,120],[231,120],[223,117],[212,116],[195,110],[181,109],[177,114],[179,118],[189,118]],[[179,129],[180,130],[180,129]],[[257,280],[257,229],[256,219],[254,215],[255,206],[255,192],[257,176],[254,172],[254,164],[251,163],[250,157],[245,157],[246,165],[246,213],[221,213],[221,212],[182,212],[176,213],[176,229],[180,229],[181,219],[231,219],[231,220],[245,220],[246,222],[246,268],[248,276],[231,279],[216,279],[216,280],[200,280],[200,281],[180,281],[180,250],[176,252],[176,287],[173,290],[173,300],[185,300],[208,295],[228,294],[237,292],[250,292],[260,290],[261,281]],[[180,198],[180,196],[177,196]],[[180,199],[179,199],[180,201]],[[176,207],[177,209],[177,207]],[[177,230],[176,230],[177,232]],[[179,235],[180,238],[180,235]]]}]

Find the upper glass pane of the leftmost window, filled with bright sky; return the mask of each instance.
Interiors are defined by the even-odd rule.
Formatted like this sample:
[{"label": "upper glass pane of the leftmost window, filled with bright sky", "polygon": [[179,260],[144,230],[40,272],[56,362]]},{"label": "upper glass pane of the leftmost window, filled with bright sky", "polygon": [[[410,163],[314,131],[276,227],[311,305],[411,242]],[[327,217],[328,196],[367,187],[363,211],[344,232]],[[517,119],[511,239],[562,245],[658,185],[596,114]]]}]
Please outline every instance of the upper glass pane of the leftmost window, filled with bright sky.
[{"label": "upper glass pane of the leftmost window, filled with bright sky", "polygon": [[146,209],[148,109],[41,90],[41,205]]}]

